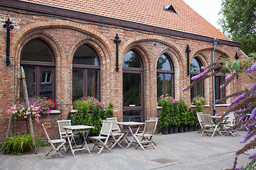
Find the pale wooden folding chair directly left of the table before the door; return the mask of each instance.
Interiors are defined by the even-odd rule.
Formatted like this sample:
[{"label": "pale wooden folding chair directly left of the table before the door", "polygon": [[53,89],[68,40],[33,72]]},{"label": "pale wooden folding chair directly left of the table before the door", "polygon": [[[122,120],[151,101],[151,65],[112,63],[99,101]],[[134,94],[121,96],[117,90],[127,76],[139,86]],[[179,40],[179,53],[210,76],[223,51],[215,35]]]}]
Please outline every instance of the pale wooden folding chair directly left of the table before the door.
[{"label": "pale wooden folding chair directly left of the table before the door", "polygon": [[110,149],[112,149],[115,145],[119,145],[119,147],[123,148],[120,144],[120,141],[124,137],[124,132],[122,132],[119,128],[119,125],[117,125],[117,118],[107,118],[107,121],[113,123],[110,137],[110,142],[112,142],[113,145],[110,147]]}]

